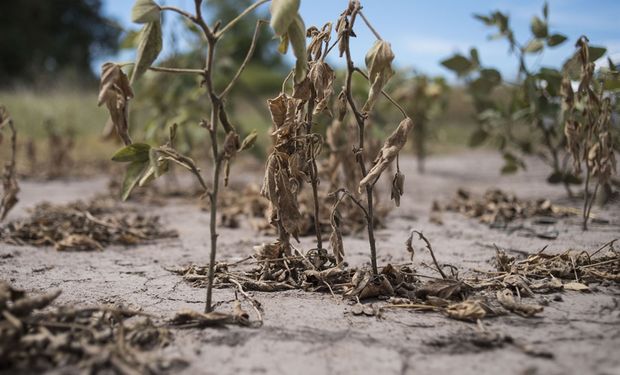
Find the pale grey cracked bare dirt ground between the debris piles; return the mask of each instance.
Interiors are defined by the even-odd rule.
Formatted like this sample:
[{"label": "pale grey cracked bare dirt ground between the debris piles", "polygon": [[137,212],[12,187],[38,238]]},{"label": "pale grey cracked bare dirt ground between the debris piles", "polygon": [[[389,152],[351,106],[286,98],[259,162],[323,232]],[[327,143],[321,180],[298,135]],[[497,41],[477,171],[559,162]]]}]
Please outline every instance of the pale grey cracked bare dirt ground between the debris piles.
[{"label": "pale grey cracked bare dirt ground between the debris piles", "polygon": [[[520,198],[580,204],[566,200],[561,187],[544,182],[548,170],[540,163],[531,161],[526,172],[510,177],[499,176],[500,166],[497,155],[485,152],[430,158],[425,175],[415,172],[413,160],[401,161],[406,191],[402,206],[388,218],[388,228],[377,233],[379,264],[408,261],[404,242],[412,228],[432,241],[440,262],[457,265],[462,272],[492,269],[493,244],[512,249],[513,255],[546,245],[548,253],[569,248],[593,251],[620,236],[617,202],[597,211],[609,223],[593,224],[588,232],[581,230],[578,217],[559,221],[556,240],[531,236],[528,231],[490,229],[456,213],[443,213],[444,225],[429,222],[432,200],[448,199],[461,186],[477,193],[499,187]],[[250,173],[241,178],[258,183],[262,176]],[[10,219],[25,215],[28,207],[44,200],[87,199],[105,191],[106,184],[105,178],[24,182],[21,204]],[[388,193],[384,195],[389,198]],[[160,215],[164,224],[179,231],[179,238],[96,253],[0,244],[0,274],[29,291],[61,288],[58,303],[121,302],[162,318],[172,317],[180,308],[202,310],[204,289],[188,285],[165,268],[207,263],[208,214],[190,203],[145,211]],[[220,229],[218,257],[241,259],[253,245],[270,240],[250,229]],[[349,264],[368,263],[364,233],[345,238],[344,244]],[[312,247],[312,238],[303,238],[301,247]],[[431,264],[427,252],[418,251],[414,263],[418,272],[433,274],[427,266]],[[613,284],[590,287],[590,293],[536,295],[538,303],[550,301],[536,318],[511,314],[484,320],[487,329],[551,352],[551,359],[528,356],[514,345],[487,350],[464,342],[463,337],[476,325],[438,313],[392,309],[381,318],[354,316],[341,298],[302,291],[252,292],[264,307],[262,328],[175,330],[173,343],[162,355],[188,360],[185,374],[620,374],[620,288]],[[216,301],[234,299],[232,290],[214,293]]]}]

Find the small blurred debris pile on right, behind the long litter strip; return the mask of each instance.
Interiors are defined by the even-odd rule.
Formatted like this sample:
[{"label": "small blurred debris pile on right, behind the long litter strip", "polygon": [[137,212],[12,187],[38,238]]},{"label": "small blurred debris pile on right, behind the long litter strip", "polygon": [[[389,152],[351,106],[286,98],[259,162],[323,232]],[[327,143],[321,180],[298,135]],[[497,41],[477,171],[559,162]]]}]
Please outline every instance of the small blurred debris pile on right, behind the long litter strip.
[{"label": "small blurred debris pile on right, behind the long litter strip", "polygon": [[480,197],[460,188],[444,207],[441,207],[438,202],[433,202],[431,212],[434,215],[434,221],[441,221],[436,215],[442,209],[460,212],[493,227],[502,227],[514,220],[535,216],[560,218],[578,213],[573,208],[555,205],[548,199],[522,200],[500,189],[489,189]]}]

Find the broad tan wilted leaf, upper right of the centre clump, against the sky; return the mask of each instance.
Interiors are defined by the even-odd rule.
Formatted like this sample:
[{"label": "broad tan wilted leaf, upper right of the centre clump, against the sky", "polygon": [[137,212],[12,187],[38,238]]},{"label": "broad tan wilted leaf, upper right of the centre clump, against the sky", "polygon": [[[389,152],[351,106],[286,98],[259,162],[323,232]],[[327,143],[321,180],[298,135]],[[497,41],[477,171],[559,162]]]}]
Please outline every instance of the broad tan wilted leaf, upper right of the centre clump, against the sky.
[{"label": "broad tan wilted leaf, upper right of the centre clump, against the sky", "polygon": [[394,60],[394,53],[390,43],[384,40],[375,41],[375,44],[366,54],[366,68],[368,69],[370,90],[368,92],[368,100],[362,107],[362,111],[370,112],[381,95],[381,90],[394,75],[392,60]]}]

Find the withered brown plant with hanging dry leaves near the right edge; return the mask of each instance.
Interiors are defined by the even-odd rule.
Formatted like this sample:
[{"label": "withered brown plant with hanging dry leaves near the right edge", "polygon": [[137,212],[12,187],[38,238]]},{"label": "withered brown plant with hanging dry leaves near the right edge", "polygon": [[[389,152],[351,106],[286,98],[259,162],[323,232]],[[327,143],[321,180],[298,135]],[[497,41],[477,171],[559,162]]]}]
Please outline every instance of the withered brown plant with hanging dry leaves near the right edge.
[{"label": "withered brown plant with hanging dry leaves near the right edge", "polygon": [[[566,148],[573,160],[574,173],[580,175],[585,165],[583,194],[583,229],[588,229],[588,219],[599,188],[610,182],[616,173],[613,135],[611,132],[612,104],[605,95],[603,82],[595,77],[595,65],[589,56],[588,38],[577,41],[580,66],[579,86],[573,91],[571,81],[562,82],[562,114]],[[591,191],[591,184],[594,189]]]}]

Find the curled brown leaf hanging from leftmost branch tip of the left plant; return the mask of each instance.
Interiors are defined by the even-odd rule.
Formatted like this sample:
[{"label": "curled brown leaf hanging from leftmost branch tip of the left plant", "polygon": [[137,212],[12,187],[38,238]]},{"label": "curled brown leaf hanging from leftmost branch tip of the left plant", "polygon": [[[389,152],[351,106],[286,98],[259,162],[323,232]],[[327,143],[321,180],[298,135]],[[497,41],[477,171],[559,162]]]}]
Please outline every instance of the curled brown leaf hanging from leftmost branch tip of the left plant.
[{"label": "curled brown leaf hanging from leftmost branch tip of the left plant", "polygon": [[113,63],[103,64],[98,105],[101,106],[105,103],[116,133],[125,145],[131,144],[128,123],[129,100],[131,98],[133,98],[133,90],[121,67]]}]

